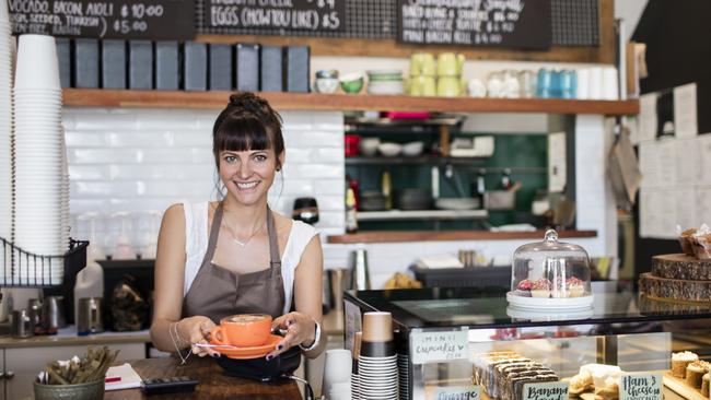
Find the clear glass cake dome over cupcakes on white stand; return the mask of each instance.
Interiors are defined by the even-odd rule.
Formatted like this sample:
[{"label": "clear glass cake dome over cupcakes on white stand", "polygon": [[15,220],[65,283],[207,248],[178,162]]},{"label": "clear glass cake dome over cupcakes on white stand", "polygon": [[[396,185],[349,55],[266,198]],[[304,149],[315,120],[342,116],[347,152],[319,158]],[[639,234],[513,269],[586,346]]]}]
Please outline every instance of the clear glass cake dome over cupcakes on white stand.
[{"label": "clear glass cake dome over cupcakes on white stand", "polygon": [[585,249],[558,242],[558,233],[546,231],[543,242],[523,245],[513,254],[512,306],[523,308],[590,308],[590,260]]}]

